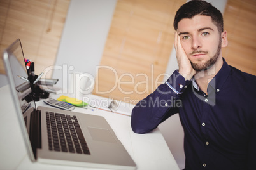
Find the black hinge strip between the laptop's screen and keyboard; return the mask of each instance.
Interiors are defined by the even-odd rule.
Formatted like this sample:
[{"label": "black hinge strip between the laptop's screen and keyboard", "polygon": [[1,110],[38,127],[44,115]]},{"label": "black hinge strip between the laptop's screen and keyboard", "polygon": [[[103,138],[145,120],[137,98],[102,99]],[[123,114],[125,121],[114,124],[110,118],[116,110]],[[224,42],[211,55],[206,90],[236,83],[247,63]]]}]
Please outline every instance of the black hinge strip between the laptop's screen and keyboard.
[{"label": "black hinge strip between the laptop's screen and keyboard", "polygon": [[31,113],[31,124],[30,124],[29,138],[32,145],[32,150],[36,158],[36,149],[41,148],[41,112],[34,110]]}]

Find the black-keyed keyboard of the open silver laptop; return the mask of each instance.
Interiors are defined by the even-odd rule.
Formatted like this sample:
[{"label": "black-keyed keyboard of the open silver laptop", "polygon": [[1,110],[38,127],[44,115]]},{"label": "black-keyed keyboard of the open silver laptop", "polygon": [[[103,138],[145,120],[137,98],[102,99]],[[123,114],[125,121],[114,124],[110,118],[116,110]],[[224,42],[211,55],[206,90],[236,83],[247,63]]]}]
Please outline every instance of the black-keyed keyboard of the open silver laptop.
[{"label": "black-keyed keyboard of the open silver laptop", "polygon": [[75,115],[46,112],[49,150],[90,154]]}]

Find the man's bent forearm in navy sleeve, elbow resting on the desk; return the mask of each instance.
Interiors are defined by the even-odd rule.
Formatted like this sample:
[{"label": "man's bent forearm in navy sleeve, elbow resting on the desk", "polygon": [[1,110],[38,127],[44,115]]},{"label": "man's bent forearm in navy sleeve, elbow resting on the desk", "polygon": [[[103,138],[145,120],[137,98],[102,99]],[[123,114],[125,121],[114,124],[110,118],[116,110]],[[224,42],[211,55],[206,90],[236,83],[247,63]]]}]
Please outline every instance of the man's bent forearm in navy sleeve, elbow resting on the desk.
[{"label": "man's bent forearm in navy sleeve, elbow resting on the desk", "polygon": [[131,126],[135,133],[148,133],[173,114],[182,103],[180,95],[190,81],[175,71],[171,77],[161,84],[152,94],[139,101],[132,110]]}]

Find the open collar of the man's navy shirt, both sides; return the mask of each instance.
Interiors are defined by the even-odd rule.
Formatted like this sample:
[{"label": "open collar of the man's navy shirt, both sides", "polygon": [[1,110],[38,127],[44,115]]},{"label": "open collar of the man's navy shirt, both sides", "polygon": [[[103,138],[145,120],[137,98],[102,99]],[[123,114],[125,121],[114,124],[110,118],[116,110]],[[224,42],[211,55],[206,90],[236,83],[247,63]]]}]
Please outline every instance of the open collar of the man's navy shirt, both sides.
[{"label": "open collar of the man's navy shirt, both sides", "polygon": [[[222,59],[223,59],[222,68],[218,71],[218,73],[215,75],[215,77],[213,77],[213,79],[209,83],[209,85],[212,86],[214,89],[216,89],[217,92],[220,92],[220,89],[222,88],[225,81],[227,80],[227,77],[229,77],[229,72],[231,70],[231,68],[225,61],[225,59],[224,58],[222,58]],[[192,84],[193,84],[194,88],[196,88],[197,91],[199,91],[199,86],[197,85],[194,77],[192,79]]]}]

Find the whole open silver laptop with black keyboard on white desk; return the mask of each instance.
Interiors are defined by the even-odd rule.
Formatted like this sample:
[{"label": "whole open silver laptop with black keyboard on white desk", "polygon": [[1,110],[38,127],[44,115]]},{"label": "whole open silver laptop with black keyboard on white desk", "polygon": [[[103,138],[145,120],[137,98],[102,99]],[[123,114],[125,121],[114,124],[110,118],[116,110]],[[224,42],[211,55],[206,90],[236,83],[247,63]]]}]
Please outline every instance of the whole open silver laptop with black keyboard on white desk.
[{"label": "whole open silver laptop with black keyboard on white desk", "polygon": [[32,162],[106,169],[136,169],[136,164],[104,117],[53,107],[36,107],[25,81],[20,39],[3,52],[18,122]]}]

